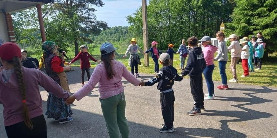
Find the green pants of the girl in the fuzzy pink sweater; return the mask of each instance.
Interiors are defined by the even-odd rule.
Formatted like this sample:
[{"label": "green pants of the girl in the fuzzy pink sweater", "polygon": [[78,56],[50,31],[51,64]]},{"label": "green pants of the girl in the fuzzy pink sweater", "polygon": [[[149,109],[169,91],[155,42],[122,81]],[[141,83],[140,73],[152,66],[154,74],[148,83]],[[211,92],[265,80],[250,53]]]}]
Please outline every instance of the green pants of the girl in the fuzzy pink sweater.
[{"label": "green pants of the girl in the fuzzy pink sweater", "polygon": [[119,138],[120,131],[122,138],[128,138],[129,128],[125,118],[124,92],[107,99],[100,99],[100,103],[110,137]]}]

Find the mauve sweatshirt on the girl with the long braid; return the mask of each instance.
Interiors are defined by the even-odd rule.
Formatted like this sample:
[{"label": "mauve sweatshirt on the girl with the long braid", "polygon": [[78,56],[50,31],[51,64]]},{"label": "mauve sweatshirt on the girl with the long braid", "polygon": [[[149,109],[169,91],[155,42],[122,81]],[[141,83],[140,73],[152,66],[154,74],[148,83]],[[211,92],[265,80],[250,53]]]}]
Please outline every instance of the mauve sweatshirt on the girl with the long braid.
[{"label": "mauve sweatshirt on the girl with the long braid", "polygon": [[[25,80],[25,100],[30,118],[43,114],[39,85],[44,87],[46,91],[51,91],[59,98],[66,99],[70,96],[67,91],[42,71],[25,67],[21,67],[21,69]],[[16,74],[13,72],[8,82],[4,82],[2,73],[0,72],[0,104],[3,104],[4,107],[4,125],[11,126],[24,121],[22,114],[22,96],[19,91],[20,87]]]}]

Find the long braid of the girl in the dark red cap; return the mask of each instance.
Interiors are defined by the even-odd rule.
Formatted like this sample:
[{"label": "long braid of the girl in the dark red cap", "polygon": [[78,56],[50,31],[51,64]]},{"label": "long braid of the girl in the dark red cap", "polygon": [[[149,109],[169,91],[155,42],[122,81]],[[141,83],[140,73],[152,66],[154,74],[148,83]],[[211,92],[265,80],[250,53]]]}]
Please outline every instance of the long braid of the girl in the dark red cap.
[{"label": "long braid of the girl in the dark red cap", "polygon": [[25,98],[26,98],[25,80],[23,78],[23,73],[22,73],[22,70],[21,70],[21,64],[20,63],[21,62],[20,62],[18,57],[13,57],[14,70],[15,70],[15,74],[16,74],[16,77],[17,77],[19,87],[20,87],[20,94],[21,94],[22,100],[23,100],[23,119],[24,119],[25,125],[30,130],[32,130],[33,129],[33,123],[29,118],[29,112],[28,112],[28,109],[27,109],[27,105],[25,103],[26,102],[25,101]]}]

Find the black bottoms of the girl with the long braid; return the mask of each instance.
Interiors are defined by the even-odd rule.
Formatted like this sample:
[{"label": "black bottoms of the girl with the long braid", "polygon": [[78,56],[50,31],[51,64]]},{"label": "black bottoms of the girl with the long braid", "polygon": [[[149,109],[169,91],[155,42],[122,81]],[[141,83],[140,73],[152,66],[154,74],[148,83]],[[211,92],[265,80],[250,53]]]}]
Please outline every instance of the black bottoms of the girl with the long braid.
[{"label": "black bottoms of the girl with the long braid", "polygon": [[33,123],[33,130],[30,130],[24,121],[5,126],[8,138],[47,138],[46,121],[43,115],[31,119]]}]

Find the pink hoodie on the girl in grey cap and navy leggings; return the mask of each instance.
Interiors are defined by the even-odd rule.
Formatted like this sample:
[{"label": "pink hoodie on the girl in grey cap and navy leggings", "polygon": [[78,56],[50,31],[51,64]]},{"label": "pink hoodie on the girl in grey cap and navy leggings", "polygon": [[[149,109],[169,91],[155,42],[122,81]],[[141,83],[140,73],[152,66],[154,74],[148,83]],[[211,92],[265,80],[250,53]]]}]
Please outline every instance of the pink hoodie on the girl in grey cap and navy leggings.
[{"label": "pink hoodie on the girl in grey cap and navy leggings", "polygon": [[207,66],[214,64],[213,59],[214,59],[215,52],[217,52],[217,47],[215,46],[207,45],[203,49],[203,54],[204,54],[204,58]]}]

